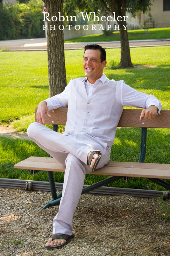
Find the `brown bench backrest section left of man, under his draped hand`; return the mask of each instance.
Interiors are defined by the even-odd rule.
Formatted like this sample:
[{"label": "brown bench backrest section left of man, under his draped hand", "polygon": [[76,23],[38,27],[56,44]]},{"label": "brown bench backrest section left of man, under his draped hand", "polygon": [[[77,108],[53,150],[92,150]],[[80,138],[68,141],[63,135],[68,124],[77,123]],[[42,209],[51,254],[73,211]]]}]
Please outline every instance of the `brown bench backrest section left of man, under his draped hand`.
[{"label": "brown bench backrest section left of man, under his draped hand", "polygon": [[[35,108],[35,122],[37,122],[36,113],[37,113],[37,107]],[[48,117],[45,114],[44,124],[66,124],[67,108],[53,109],[53,110],[50,110],[49,113],[51,117]]]}]

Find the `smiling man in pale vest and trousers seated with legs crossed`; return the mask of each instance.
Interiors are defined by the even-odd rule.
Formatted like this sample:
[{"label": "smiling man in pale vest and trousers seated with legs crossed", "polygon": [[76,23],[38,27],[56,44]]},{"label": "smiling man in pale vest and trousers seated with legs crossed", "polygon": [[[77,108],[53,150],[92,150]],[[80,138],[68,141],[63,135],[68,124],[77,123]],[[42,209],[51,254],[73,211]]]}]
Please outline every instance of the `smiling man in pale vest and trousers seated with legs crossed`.
[{"label": "smiling man in pale vest and trousers seated with legs crossed", "polygon": [[[27,130],[28,136],[40,148],[66,166],[59,212],[53,219],[53,235],[46,249],[61,248],[74,237],[72,219],[85,174],[110,160],[123,106],[143,108],[140,121],[160,114],[160,101],[153,95],[138,92],[123,80],[109,80],[103,73],[106,63],[105,49],[98,44],[86,45],[85,77],[71,80],[62,93],[41,101],[37,110],[38,123],[30,124]],[[64,135],[43,125],[44,115],[50,117],[49,110],[67,105]]]}]

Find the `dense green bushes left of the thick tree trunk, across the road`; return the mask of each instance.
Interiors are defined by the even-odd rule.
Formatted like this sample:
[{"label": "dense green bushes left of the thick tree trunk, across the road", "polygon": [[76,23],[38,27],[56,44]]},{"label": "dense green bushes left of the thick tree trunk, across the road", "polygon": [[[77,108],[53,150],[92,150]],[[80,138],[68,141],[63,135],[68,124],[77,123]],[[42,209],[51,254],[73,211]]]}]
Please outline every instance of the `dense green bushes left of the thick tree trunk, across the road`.
[{"label": "dense green bushes left of the thick tree trunk, across the road", "polygon": [[0,4],[0,40],[45,37],[42,1]]}]

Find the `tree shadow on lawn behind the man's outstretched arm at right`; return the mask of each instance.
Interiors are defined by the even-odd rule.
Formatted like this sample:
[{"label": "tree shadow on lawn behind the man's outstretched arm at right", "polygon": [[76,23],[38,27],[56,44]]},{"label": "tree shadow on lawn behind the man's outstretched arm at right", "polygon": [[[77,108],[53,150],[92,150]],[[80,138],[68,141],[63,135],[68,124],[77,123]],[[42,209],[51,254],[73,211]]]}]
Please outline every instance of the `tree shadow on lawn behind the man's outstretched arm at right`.
[{"label": "tree shadow on lawn behind the man's outstretched arm at right", "polygon": [[124,69],[123,74],[107,74],[108,78],[124,80],[136,90],[170,91],[170,65],[159,65],[156,68]]}]

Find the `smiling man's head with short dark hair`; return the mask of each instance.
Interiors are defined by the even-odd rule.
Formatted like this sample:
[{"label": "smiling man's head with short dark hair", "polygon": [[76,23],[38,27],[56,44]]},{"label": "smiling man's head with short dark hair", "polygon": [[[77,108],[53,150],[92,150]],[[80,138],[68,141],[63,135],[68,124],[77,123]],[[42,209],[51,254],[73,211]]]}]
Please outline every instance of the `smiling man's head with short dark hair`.
[{"label": "smiling man's head with short dark hair", "polygon": [[98,44],[85,45],[83,69],[90,83],[94,84],[102,76],[106,63],[106,51],[102,46]]}]

